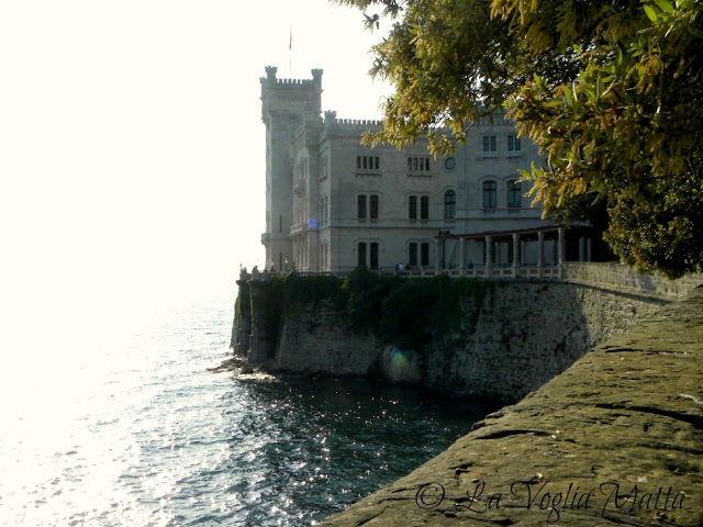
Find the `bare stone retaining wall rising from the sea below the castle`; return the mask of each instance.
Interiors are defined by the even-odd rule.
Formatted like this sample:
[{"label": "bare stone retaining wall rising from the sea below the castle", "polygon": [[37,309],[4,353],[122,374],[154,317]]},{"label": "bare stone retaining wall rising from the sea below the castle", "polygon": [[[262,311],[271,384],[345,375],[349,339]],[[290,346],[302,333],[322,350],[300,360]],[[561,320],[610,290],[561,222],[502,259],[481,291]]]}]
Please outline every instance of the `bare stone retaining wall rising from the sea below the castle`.
[{"label": "bare stone retaining wall rising from the sea below the castle", "polygon": [[567,276],[568,281],[495,282],[479,305],[459,307],[458,328],[435,336],[422,352],[383,346],[370,330],[353,330],[331,302],[297,306],[278,335],[263,334],[261,313],[254,313],[259,303],[249,302],[247,314],[247,302],[241,302],[233,347],[252,362],[290,371],[380,372],[389,382],[517,401],[702,281],[672,282],[594,264],[570,264]]}]

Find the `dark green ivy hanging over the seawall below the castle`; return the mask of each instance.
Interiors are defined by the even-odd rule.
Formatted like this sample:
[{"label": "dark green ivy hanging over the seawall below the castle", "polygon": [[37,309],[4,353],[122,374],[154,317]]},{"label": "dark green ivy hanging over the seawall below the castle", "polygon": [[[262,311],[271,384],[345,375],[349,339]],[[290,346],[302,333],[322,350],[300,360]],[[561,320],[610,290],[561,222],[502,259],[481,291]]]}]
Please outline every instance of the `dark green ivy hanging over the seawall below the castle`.
[{"label": "dark green ivy hanging over the seawall below the castle", "polygon": [[284,274],[248,285],[253,318],[261,321],[272,338],[280,334],[283,319],[332,304],[350,329],[371,330],[383,344],[423,351],[437,337],[476,324],[478,307],[494,283],[384,277],[358,267],[344,280]]}]

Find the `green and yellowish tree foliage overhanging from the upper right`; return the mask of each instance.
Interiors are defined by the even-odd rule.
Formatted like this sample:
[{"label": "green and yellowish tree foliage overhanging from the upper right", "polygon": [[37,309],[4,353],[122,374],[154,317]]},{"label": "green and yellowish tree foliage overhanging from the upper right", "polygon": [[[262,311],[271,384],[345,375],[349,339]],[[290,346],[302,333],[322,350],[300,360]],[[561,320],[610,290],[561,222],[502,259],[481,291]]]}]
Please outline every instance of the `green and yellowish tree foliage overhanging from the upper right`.
[{"label": "green and yellowish tree foliage overhanging from the upper right", "polygon": [[703,2],[332,0],[394,20],[371,74],[390,80],[371,143],[450,152],[506,111],[546,155],[523,173],[546,215],[604,200],[620,258],[669,276],[703,264]]}]

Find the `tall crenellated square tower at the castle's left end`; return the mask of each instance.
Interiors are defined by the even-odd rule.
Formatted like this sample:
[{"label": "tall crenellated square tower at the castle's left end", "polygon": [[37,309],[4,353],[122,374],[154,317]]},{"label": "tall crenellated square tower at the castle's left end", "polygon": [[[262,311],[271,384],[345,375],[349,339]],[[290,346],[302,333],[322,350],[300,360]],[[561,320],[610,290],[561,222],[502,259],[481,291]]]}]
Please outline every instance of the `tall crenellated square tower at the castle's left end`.
[{"label": "tall crenellated square tower at the castle's left end", "polygon": [[292,261],[290,229],[293,224],[293,165],[291,141],[305,113],[321,112],[322,69],[312,79],[278,79],[275,66],[261,77],[261,120],[266,125],[266,267],[281,270]]}]

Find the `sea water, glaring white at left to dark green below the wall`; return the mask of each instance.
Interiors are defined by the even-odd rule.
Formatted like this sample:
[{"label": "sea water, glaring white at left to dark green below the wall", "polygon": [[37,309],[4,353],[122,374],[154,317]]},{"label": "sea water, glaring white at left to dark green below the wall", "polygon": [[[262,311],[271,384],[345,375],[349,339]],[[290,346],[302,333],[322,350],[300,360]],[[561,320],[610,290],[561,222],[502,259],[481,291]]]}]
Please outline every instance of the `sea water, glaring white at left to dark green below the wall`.
[{"label": "sea water, glaring white at left to dark green below the wall", "polygon": [[[2,526],[305,526],[393,482],[498,403],[361,379],[212,373],[234,299],[163,310],[5,385]],[[66,358],[62,357],[66,354]]]}]

